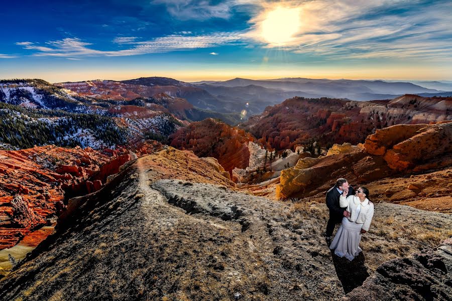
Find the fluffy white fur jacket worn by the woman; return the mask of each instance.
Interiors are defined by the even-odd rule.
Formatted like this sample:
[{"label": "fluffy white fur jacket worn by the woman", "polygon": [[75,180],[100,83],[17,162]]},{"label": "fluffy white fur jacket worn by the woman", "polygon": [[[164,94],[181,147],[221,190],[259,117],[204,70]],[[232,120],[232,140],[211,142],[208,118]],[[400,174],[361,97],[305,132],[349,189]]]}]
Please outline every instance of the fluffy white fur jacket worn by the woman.
[{"label": "fluffy white fur jacket worn by the woman", "polygon": [[[357,196],[348,196],[346,198],[341,195],[339,197],[339,206],[342,208],[347,207],[347,211],[351,213],[349,221],[352,223],[363,224],[361,229],[369,231],[370,223],[374,216],[374,204],[372,202],[369,202],[366,198],[363,203],[361,203],[360,198]],[[359,214],[357,214],[358,206],[361,206]]]}]

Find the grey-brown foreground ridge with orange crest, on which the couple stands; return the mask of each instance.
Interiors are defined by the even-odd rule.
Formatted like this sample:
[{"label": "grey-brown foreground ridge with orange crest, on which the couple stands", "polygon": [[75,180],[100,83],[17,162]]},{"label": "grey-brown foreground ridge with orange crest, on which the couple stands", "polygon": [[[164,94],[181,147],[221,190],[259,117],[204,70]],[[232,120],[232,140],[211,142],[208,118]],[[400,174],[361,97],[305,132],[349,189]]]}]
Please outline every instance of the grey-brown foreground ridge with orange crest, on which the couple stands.
[{"label": "grey-brown foreground ridge with orange crest, on which the couple stands", "polygon": [[[402,246],[407,239],[404,257],[425,246],[417,236],[400,242],[384,236],[391,232],[373,232],[384,229],[376,219],[363,239],[368,259],[358,260],[354,273],[321,239],[323,204],[240,193],[221,170],[216,160],[173,148],[126,165],[100,191],[71,201],[77,205],[57,232],[0,281],[0,298],[338,299],[400,256],[377,243]],[[394,212],[395,227],[452,224],[445,214],[376,207],[383,221]]]}]

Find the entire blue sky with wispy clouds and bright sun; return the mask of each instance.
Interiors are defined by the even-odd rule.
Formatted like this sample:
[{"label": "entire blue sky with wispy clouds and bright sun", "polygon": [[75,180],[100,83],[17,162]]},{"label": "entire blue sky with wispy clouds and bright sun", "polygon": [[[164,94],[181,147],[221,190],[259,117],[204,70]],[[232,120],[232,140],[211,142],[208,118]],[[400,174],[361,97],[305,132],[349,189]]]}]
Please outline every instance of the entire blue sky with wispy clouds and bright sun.
[{"label": "entire blue sky with wispy clouds and bright sun", "polygon": [[10,1],[0,78],[452,80],[452,2]]}]

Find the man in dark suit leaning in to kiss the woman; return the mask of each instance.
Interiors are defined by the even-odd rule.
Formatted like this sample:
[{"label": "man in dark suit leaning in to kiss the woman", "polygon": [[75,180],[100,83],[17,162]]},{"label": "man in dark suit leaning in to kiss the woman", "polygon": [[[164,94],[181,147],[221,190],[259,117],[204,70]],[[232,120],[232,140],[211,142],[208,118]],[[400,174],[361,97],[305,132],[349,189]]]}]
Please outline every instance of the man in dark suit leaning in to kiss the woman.
[{"label": "man in dark suit leaning in to kiss the woman", "polygon": [[355,194],[355,190],[349,185],[349,182],[344,178],[339,178],[336,184],[326,193],[326,206],[329,209],[329,219],[326,224],[325,239],[328,246],[331,243],[332,232],[336,224],[341,223],[344,216],[350,217],[350,212],[339,206],[339,197],[344,191],[347,193],[347,196]]}]

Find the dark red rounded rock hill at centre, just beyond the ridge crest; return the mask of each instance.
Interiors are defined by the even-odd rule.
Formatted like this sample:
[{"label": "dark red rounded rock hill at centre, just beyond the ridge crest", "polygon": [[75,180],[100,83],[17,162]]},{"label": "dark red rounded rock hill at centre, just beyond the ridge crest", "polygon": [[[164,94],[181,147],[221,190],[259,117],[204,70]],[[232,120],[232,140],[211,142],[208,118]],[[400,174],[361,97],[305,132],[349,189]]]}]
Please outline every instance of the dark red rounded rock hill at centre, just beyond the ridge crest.
[{"label": "dark red rounded rock hill at centre, just beyond the ridge crest", "polygon": [[208,118],[179,129],[170,136],[171,146],[192,150],[199,157],[213,157],[228,172],[246,168],[253,137],[242,129]]}]

